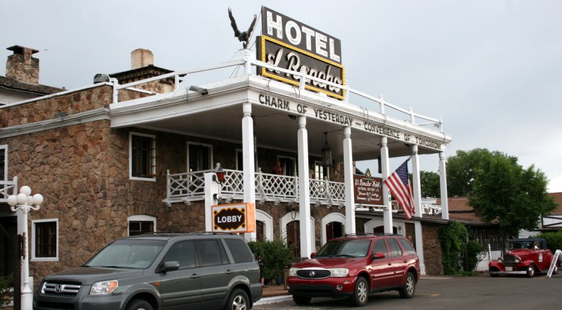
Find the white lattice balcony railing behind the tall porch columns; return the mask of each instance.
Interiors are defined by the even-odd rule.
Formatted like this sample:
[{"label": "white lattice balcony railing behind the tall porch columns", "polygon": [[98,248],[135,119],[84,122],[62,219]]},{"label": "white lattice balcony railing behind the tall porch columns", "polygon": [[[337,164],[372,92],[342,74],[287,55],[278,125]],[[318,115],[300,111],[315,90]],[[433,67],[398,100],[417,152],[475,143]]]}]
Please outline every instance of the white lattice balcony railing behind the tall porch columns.
[{"label": "white lattice balcony railing behind the tall porch columns", "polygon": [[[226,180],[222,184],[221,197],[231,200],[244,200],[244,174],[239,170],[224,169]],[[165,204],[204,200],[204,174],[214,170],[170,174],[167,171],[167,194]],[[259,169],[255,173],[256,202],[298,202],[298,176],[279,176],[264,174]],[[309,180],[310,203],[313,205],[344,206],[344,184],[327,180]]]}]

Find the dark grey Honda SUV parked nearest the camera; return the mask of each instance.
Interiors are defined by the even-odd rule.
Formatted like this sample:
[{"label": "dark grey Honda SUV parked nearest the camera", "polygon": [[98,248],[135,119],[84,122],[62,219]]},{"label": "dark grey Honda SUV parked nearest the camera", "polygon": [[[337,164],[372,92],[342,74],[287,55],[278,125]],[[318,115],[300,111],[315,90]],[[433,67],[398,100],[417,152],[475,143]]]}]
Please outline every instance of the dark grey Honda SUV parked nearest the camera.
[{"label": "dark grey Honda SUV parked nearest the camera", "polygon": [[81,267],[46,276],[34,309],[250,309],[259,266],[239,235],[117,239]]}]

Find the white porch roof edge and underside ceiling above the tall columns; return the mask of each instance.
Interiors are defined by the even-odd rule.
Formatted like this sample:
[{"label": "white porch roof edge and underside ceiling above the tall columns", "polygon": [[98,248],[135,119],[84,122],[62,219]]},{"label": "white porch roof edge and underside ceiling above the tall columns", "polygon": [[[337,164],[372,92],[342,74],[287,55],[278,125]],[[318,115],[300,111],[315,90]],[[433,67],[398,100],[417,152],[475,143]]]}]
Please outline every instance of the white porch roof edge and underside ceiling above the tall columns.
[{"label": "white porch roof edge and underside ceiling above the tall columns", "polygon": [[[326,106],[334,109],[333,102],[330,102],[333,99],[314,93],[295,95],[293,88],[283,89],[287,87],[285,84],[275,88],[273,83],[261,85],[259,80],[255,82],[253,79],[255,77],[230,83],[222,81],[218,86],[207,85],[208,95],[184,90],[176,95],[156,95],[152,99],[145,97],[130,103],[115,104],[112,108],[112,127],[135,126],[242,144],[242,106],[244,102],[251,102],[257,146],[297,152],[297,113],[261,104],[257,99],[259,94],[268,93],[296,103],[302,100],[303,104],[316,106],[327,102]],[[311,96],[313,99],[310,99]],[[324,145],[323,133],[327,132],[333,159],[342,161],[343,128],[340,123],[307,117],[309,154],[320,156]],[[379,156],[379,135],[352,128],[351,141],[353,160],[371,160]],[[390,157],[411,154],[410,145],[393,139],[388,139],[388,151]],[[435,150],[419,148],[419,154],[434,153]]]}]

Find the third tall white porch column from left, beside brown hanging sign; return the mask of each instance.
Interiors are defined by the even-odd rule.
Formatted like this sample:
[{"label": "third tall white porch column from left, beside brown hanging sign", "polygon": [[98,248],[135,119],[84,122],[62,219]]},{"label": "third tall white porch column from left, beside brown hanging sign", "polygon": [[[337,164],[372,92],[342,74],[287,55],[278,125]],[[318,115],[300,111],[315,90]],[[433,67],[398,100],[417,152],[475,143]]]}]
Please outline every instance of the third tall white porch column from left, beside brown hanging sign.
[{"label": "third tall white porch column from left, beside brown hanging sign", "polygon": [[344,191],[345,191],[345,233],[355,233],[355,193],[353,191],[353,152],[351,148],[351,127],[344,127]]}]

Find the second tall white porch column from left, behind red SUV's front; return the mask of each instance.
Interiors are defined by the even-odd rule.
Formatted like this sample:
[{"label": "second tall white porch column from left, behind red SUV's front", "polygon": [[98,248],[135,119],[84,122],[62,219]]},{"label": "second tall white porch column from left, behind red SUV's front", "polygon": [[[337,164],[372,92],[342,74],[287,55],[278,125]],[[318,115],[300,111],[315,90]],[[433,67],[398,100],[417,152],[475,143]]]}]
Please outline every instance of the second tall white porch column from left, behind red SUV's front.
[{"label": "second tall white porch column from left, behind red SUV's front", "polygon": [[298,117],[298,221],[301,224],[301,257],[312,254],[312,227],[310,226],[310,186],[308,176],[308,132],[306,117]]}]

